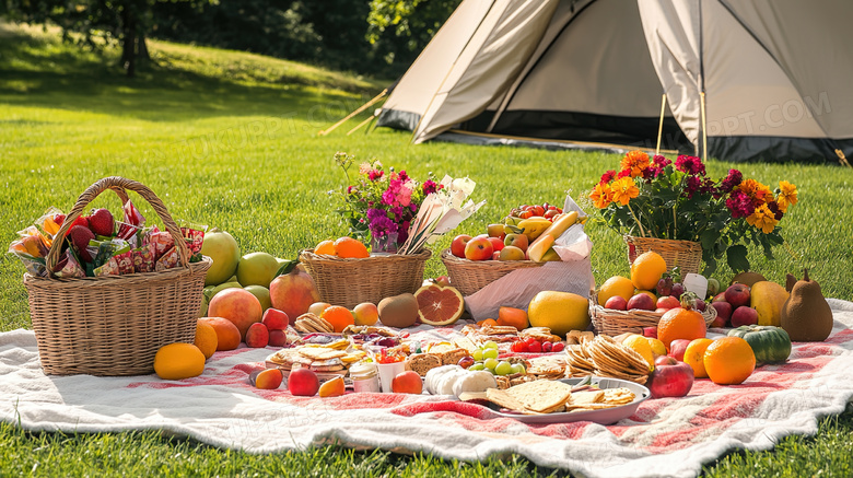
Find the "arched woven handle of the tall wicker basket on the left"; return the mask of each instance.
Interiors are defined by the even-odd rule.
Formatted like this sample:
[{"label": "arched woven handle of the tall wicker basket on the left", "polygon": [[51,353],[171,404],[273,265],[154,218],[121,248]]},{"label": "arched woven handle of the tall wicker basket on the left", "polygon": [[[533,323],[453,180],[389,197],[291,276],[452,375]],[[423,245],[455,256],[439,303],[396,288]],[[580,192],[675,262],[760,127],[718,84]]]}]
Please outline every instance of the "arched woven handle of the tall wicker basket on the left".
[{"label": "arched woven handle of the tall wicker basket on the left", "polygon": [[148,186],[143,185],[142,183],[138,183],[136,180],[127,179],[120,176],[109,176],[100,179],[92,186],[89,186],[89,188],[86,188],[86,190],[84,190],[83,194],[77,198],[77,202],[74,202],[74,207],[71,209],[71,212],[66,215],[66,220],[62,222],[62,226],[59,228],[59,232],[57,232],[54,236],[60,237],[61,240],[55,240],[54,244],[50,245],[50,252],[47,254],[47,270],[51,276],[56,265],[59,263],[59,254],[62,250],[62,242],[65,241],[66,233],[71,228],[71,224],[73,224],[77,218],[83,213],[83,209],[85,209],[90,202],[92,202],[101,195],[101,193],[107,189],[115,191],[116,196],[118,196],[118,198],[121,200],[122,206],[129,200],[127,196],[128,190],[132,190],[142,196],[142,198],[148,201],[152,208],[154,208],[154,212],[156,212],[160,219],[163,221],[163,225],[166,226],[166,231],[168,231],[168,233],[172,234],[172,238],[175,240],[175,247],[178,248],[180,265],[184,266],[184,268],[189,267],[189,248],[184,241],[184,234],[180,233],[180,229],[177,226],[177,224],[175,224],[175,221],[172,219],[172,214],[168,213],[165,205],[163,205],[163,201],[160,200],[157,195],[155,195],[154,191],[149,189]]}]

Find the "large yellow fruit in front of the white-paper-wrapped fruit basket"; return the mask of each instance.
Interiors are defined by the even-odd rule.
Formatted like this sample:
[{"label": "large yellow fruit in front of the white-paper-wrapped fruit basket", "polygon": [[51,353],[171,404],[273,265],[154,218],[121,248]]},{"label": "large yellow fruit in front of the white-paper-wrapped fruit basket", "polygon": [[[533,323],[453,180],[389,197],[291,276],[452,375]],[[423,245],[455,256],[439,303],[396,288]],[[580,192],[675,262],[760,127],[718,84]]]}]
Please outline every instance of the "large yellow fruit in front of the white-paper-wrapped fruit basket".
[{"label": "large yellow fruit in front of the white-paper-wrapped fruit basket", "polygon": [[564,337],[569,330],[586,330],[589,326],[589,302],[570,292],[542,291],[527,307],[531,327],[548,327],[551,334]]}]

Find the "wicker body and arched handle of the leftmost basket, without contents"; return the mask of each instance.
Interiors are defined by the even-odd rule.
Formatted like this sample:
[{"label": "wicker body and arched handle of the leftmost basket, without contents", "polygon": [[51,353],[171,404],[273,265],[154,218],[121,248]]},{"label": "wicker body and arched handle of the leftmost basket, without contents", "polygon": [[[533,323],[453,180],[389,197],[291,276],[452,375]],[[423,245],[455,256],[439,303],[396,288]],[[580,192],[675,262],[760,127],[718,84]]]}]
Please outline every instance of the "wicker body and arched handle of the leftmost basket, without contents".
[{"label": "wicker body and arched handle of the leftmost basket, without contents", "polygon": [[[180,230],[160,198],[148,187],[122,177],[106,177],[90,186],[74,203],[57,233],[63,237],[83,209],[106,189],[124,202],[126,190],[138,193],[175,238],[180,266],[162,272],[55,279],[24,275],[30,315],[45,373],[71,375],[141,375],[153,372],[162,346],[192,343],[201,305],[205,257],[189,264]],[[47,269],[54,270],[63,241],[54,241]]]}]

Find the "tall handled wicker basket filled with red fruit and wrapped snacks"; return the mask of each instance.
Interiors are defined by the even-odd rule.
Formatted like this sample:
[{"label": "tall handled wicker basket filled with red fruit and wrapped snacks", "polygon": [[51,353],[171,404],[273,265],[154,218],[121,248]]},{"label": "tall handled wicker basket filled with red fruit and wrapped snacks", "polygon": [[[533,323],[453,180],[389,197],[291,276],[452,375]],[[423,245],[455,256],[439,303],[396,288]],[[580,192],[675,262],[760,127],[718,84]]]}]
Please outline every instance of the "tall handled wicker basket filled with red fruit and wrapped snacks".
[{"label": "tall handled wicker basket filled with red fruit and wrapped snacks", "polygon": [[[107,189],[121,200],[124,221],[114,222],[106,209],[84,218]],[[166,231],[143,229],[127,191],[145,199]],[[147,374],[160,347],[192,342],[212,263],[199,253],[203,231],[178,228],[151,189],[106,177],[83,191],[68,215],[37,223],[20,241],[36,237],[40,246],[19,257],[27,266],[24,285],[45,373]]]}]

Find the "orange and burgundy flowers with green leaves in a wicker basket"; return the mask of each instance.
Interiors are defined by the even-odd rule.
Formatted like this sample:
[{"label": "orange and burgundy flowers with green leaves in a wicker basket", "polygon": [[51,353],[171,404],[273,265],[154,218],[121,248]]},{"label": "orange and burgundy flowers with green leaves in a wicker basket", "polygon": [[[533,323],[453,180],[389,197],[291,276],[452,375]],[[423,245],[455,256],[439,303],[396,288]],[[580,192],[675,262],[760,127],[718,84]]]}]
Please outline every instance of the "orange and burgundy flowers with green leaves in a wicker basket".
[{"label": "orange and burgundy flowers with green leaves in a wicker basket", "polygon": [[783,243],[780,221],[797,202],[797,189],[781,180],[775,191],[729,170],[710,177],[699,158],[679,155],[675,164],[642,151],[622,159],[620,171],[607,171],[589,194],[604,222],[620,233],[628,260],[654,250],[670,270],[704,273],[725,256],[733,270],[748,270],[746,244],[772,247]]}]

